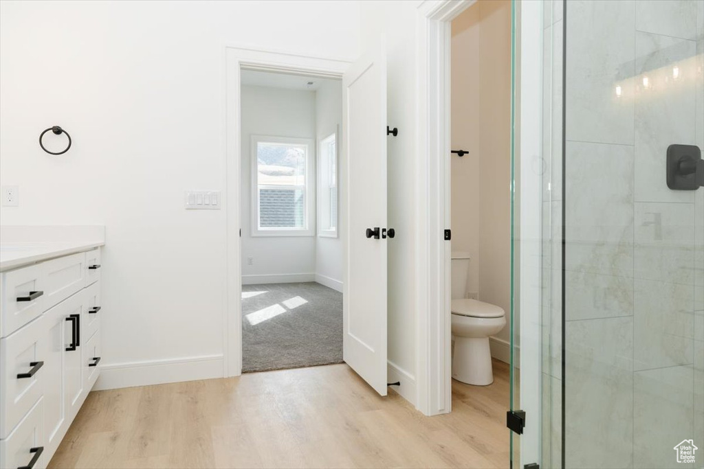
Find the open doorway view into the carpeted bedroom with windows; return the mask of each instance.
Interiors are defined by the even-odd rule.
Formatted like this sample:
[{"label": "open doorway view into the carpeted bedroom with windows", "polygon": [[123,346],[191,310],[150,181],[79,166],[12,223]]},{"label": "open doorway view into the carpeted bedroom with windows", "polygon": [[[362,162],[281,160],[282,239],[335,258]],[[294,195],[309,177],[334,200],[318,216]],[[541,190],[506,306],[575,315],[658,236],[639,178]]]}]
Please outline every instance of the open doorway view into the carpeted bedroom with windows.
[{"label": "open doorway view into the carpeted bedroom with windows", "polygon": [[338,364],[339,79],[241,71],[242,371]]}]

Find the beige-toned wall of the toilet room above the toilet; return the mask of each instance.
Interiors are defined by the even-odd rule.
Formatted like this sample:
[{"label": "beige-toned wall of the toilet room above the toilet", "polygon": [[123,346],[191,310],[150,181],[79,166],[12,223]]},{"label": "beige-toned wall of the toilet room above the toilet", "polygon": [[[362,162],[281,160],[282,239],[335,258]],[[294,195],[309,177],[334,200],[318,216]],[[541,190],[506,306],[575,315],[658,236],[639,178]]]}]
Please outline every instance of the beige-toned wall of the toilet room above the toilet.
[{"label": "beige-toned wall of the toilet room above the toilet", "polygon": [[[471,292],[510,311],[510,72],[508,0],[479,0],[452,22],[453,250],[466,250]],[[466,148],[465,148],[466,147]],[[492,353],[508,361],[510,329]],[[503,341],[503,342],[501,342]],[[498,342],[498,343],[497,343]]]}]

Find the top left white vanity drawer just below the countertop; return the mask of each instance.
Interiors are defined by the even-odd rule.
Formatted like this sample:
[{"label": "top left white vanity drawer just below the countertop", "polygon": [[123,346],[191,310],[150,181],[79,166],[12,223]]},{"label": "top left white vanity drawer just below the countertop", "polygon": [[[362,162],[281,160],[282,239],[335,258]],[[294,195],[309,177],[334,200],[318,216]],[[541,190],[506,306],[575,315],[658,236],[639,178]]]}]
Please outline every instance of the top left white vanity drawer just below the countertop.
[{"label": "top left white vanity drawer just below the countertop", "polygon": [[0,276],[0,337],[6,337],[42,314],[47,292],[43,264],[11,270]]}]

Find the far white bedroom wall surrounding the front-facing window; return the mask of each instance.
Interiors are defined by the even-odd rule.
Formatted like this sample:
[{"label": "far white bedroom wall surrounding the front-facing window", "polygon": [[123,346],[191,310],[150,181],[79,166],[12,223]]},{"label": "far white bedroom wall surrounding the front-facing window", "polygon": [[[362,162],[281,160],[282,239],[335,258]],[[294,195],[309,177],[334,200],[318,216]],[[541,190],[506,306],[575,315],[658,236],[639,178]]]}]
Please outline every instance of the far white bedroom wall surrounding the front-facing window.
[{"label": "far white bedroom wall surrounding the front-facing window", "polygon": [[[313,281],[315,236],[251,236],[251,136],[286,136],[315,141],[315,91],[242,86],[241,100],[242,281]],[[315,162],[315,148],[311,150],[311,161]],[[315,181],[312,188],[315,191]],[[315,220],[311,222],[315,223]],[[252,265],[247,263],[249,257],[253,260]]]}]

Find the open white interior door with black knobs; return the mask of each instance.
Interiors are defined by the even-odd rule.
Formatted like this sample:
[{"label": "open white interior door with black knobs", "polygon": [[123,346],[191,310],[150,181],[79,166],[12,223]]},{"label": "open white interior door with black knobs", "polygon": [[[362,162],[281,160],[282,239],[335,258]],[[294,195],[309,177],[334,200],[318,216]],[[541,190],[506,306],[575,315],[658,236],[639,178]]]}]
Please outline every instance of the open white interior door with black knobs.
[{"label": "open white interior door with black knobs", "polygon": [[[342,79],[346,155],[344,360],[386,395],[386,60],[379,51]],[[367,237],[367,229],[378,235]]]}]

